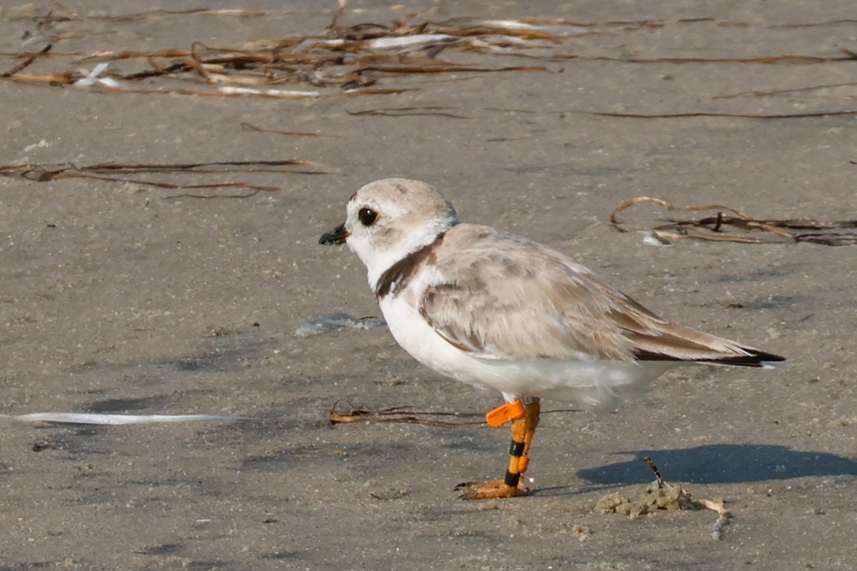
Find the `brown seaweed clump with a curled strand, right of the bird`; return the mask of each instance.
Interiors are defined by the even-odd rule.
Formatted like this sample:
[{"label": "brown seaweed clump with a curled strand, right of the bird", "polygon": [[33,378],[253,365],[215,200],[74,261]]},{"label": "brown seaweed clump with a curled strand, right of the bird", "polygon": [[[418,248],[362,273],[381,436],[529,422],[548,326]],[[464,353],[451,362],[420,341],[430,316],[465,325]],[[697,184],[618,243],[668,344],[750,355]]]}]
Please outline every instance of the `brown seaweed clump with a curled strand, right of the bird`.
[{"label": "brown seaweed clump with a curled strand, right of the bird", "polygon": [[[621,232],[626,232],[616,215],[642,203],[658,205],[668,211],[717,211],[714,216],[691,220],[668,219],[667,223],[657,225],[650,230],[650,235],[662,244],[692,239],[747,244],[809,242],[824,246],[857,245],[857,220],[822,222],[810,218],[759,219],[730,206],[676,206],[668,200],[650,196],[638,196],[618,205],[610,213],[610,223]],[[723,211],[730,212],[731,216],[724,215]]]}]

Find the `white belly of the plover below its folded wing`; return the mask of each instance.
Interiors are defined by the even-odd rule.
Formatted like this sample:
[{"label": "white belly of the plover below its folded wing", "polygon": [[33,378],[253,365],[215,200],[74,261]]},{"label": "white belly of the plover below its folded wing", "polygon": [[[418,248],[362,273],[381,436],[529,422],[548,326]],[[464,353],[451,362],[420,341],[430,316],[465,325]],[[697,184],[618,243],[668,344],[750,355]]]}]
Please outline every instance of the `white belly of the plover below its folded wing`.
[{"label": "white belly of the plover below its folded wing", "polygon": [[381,312],[405,351],[442,375],[506,395],[537,396],[590,408],[610,407],[621,396],[645,390],[675,365],[666,361],[514,361],[474,357],[435,333],[403,298],[385,296],[381,299]]}]

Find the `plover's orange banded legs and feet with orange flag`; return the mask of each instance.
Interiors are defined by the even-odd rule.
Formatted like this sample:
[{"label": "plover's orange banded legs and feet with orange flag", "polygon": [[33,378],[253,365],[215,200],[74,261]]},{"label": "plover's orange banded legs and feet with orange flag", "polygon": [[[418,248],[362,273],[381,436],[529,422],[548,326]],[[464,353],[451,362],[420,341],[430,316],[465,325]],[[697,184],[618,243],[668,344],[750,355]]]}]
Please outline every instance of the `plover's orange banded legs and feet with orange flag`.
[{"label": "plover's orange banded legs and feet with orange flag", "polygon": [[[503,419],[503,412],[507,413]],[[488,413],[488,423],[500,426],[512,420],[512,444],[509,446],[509,467],[506,478],[494,482],[465,482],[456,486],[462,490],[463,500],[488,500],[500,497],[524,496],[528,490],[524,485],[524,472],[530,464],[530,444],[538,426],[541,406],[535,397],[515,401]],[[499,417],[499,418],[498,418]],[[498,420],[503,422],[495,424]]]}]

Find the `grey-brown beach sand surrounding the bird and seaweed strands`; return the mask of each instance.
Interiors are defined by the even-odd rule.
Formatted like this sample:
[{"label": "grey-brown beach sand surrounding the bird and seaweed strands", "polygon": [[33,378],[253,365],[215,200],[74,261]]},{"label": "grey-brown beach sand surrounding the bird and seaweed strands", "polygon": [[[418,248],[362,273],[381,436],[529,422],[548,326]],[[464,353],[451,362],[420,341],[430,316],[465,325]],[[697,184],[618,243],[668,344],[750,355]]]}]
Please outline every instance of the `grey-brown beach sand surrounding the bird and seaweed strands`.
[{"label": "grey-brown beach sand surrounding the bird and seaweed strands", "polygon": [[[49,2],[0,7],[0,71],[52,43],[18,80],[0,79],[0,164],[55,165],[0,171],[0,412],[244,420],[0,419],[0,569],[857,567],[857,246],[657,247],[644,240],[664,216],[651,205],[620,215],[630,231],[608,223],[641,195],[761,218],[854,218],[854,115],[794,117],[857,110],[855,63],[842,51],[857,49],[853,2],[351,2],[340,26],[408,14],[411,24],[591,26],[393,49],[383,64],[355,62],[369,57],[364,43],[339,52],[341,65],[304,63],[289,83],[249,86],[318,92],[303,99],[115,92],[215,93],[224,83],[202,73],[264,77],[181,55],[113,60],[99,77],[116,84],[36,76],[80,79],[100,51],[323,39],[333,2],[66,4],[77,17]],[[103,17],[191,4],[261,13]],[[403,52],[425,65],[542,69],[387,73],[415,61]],[[126,77],[174,63],[199,69]],[[407,91],[349,96],[354,78],[338,74],[362,65],[363,81],[376,81],[363,89]],[[316,174],[50,174],[288,159]],[[356,257],[317,241],[357,187],[392,175],[428,181],[464,220],[547,243],[656,312],[791,367],[681,369],[618,412],[546,414],[528,473],[535,493],[459,501],[459,482],[505,469],[506,430],[332,427],[328,409],[481,413],[499,395],[438,377],[384,329],[295,335],[326,314],[378,314]],[[719,540],[709,510],[596,513],[607,494],[644,490],[645,455],[694,496],[726,500],[733,518]]]}]

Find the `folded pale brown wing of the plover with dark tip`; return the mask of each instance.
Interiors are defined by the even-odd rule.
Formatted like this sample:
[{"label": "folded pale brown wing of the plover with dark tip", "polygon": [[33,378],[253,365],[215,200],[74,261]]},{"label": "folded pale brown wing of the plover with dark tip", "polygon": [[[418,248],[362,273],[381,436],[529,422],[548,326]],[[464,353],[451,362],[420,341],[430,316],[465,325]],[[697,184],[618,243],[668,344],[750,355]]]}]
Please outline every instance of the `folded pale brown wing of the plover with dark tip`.
[{"label": "folded pale brown wing of the plover with dark tip", "polygon": [[670,324],[560,253],[460,224],[435,250],[438,280],[417,308],[455,347],[501,360],[782,360]]}]

